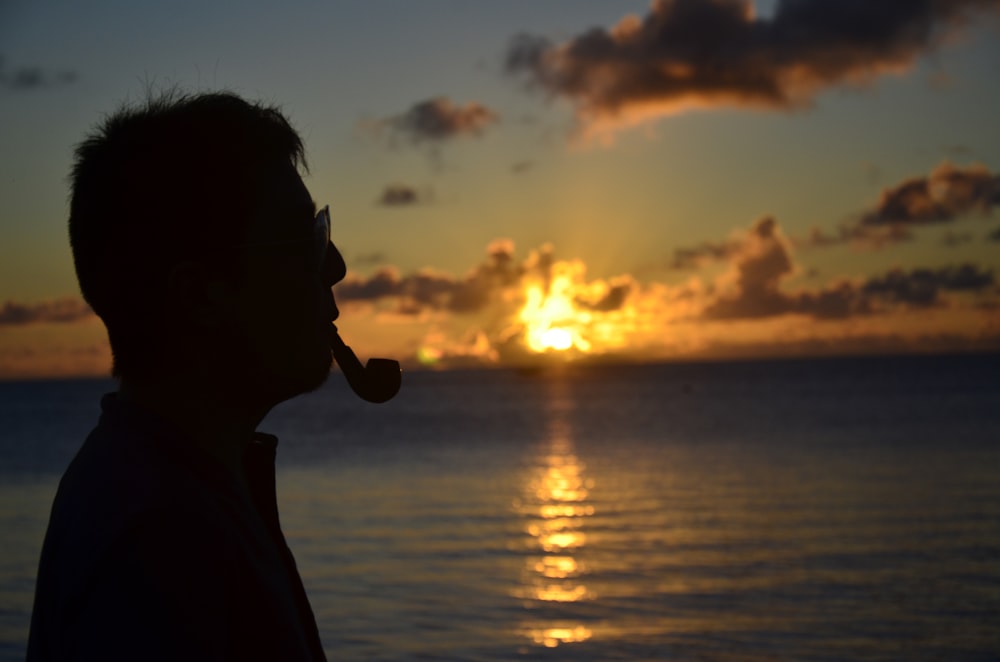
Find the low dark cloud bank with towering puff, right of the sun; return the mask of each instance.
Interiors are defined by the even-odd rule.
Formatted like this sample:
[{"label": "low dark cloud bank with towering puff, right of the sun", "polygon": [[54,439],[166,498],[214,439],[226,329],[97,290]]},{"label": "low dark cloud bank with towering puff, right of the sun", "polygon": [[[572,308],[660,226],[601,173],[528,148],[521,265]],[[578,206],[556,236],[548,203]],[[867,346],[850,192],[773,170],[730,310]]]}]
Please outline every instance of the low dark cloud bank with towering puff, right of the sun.
[{"label": "low dark cloud bank with towering puff, right of the sun", "polygon": [[706,307],[708,319],[755,319],[798,314],[816,319],[843,319],[904,306],[927,308],[942,303],[943,292],[986,293],[994,284],[990,270],[973,264],[893,269],[862,282],[841,280],[818,290],[785,292],[781,283],[794,273],[790,244],[774,219],[757,221],[740,254],[733,258],[733,292]]}]

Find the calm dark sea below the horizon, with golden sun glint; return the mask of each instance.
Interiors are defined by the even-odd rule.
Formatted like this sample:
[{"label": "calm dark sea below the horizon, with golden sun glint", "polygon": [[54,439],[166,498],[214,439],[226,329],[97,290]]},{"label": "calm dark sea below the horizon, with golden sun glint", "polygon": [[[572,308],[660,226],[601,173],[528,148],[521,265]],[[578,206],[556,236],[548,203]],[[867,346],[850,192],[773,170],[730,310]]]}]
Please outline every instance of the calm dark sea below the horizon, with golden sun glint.
[{"label": "calm dark sea below the horizon, with golden sun glint", "polygon": [[[108,382],[0,384],[0,658]],[[412,373],[286,403],[331,659],[1000,659],[1000,357]]]}]

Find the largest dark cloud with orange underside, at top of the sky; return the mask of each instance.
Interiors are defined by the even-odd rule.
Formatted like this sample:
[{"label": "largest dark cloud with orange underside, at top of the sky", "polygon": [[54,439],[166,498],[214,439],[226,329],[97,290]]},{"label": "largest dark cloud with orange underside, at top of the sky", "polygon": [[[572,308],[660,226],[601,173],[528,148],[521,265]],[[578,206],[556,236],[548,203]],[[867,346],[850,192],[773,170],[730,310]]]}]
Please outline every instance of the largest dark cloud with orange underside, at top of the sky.
[{"label": "largest dark cloud with orange underside, at top of the sky", "polygon": [[564,43],[516,36],[505,69],[571,101],[589,125],[692,108],[809,106],[822,90],[909,69],[1000,0],[655,0],[640,18]]}]

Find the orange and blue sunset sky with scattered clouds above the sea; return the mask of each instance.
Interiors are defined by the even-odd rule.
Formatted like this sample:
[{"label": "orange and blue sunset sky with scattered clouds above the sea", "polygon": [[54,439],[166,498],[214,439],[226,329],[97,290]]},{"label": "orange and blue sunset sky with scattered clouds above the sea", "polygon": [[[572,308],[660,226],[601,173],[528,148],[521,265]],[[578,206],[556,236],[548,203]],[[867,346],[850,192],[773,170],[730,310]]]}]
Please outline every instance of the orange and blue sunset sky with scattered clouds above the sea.
[{"label": "orange and blue sunset sky with scattered clouds above the sea", "polygon": [[1000,349],[997,80],[1000,0],[0,0],[0,378],[109,373],[67,175],[171,86],[302,133],[359,354]]}]

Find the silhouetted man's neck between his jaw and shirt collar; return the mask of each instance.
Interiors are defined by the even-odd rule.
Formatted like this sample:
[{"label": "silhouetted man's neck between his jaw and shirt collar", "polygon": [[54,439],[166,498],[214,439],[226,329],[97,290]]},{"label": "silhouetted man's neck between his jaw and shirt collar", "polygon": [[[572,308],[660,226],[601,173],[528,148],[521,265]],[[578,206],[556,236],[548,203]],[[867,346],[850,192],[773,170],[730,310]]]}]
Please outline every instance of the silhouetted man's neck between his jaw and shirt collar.
[{"label": "silhouetted man's neck between his jaw and shirt collar", "polygon": [[242,475],[243,451],[267,409],[237,403],[224,388],[197,386],[204,383],[123,377],[118,396],[170,422],[196,446]]}]

